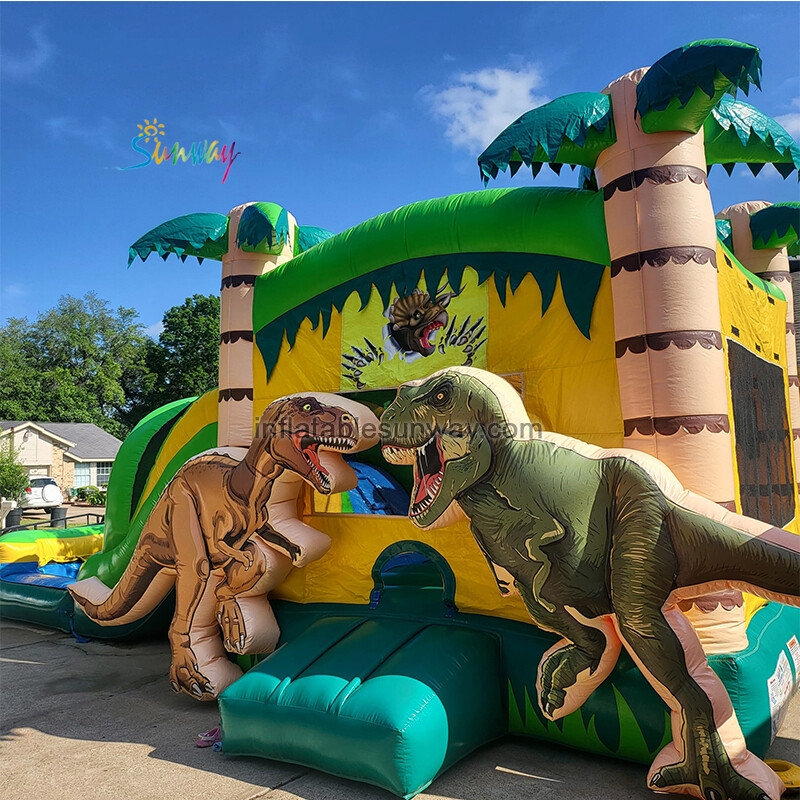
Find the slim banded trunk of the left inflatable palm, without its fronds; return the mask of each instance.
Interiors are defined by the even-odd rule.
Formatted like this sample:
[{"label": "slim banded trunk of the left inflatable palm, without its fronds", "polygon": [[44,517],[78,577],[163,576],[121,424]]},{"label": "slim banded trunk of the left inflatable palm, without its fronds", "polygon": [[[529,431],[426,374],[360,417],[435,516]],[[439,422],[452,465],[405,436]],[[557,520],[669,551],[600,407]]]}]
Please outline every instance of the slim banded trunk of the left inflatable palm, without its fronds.
[{"label": "slim banded trunk of the left inflatable palm, without its fronds", "polygon": [[[237,242],[239,220],[244,209],[237,206],[228,215],[228,252],[222,257],[219,345],[220,447],[249,447],[253,439],[253,291],[259,275],[288,261],[293,252],[290,233],[277,255],[246,253]],[[289,215],[289,230],[295,230]]]}]

